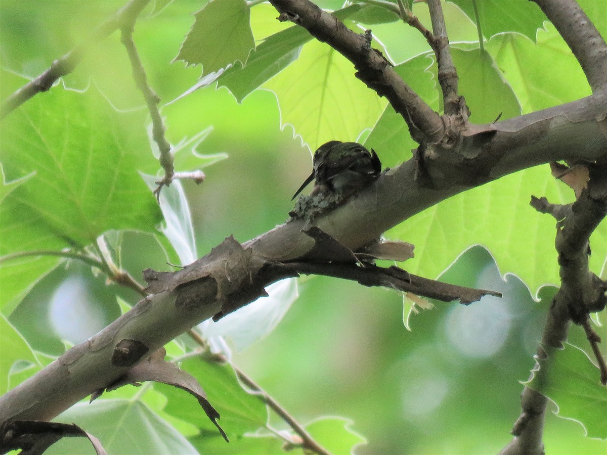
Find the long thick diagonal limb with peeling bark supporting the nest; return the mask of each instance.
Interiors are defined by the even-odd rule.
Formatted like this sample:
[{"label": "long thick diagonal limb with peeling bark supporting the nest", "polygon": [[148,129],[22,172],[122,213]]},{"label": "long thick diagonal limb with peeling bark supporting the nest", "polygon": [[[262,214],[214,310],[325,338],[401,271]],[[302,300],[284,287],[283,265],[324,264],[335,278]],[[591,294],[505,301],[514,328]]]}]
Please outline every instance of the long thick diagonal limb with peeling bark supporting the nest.
[{"label": "long thick diagonal limb with peeling bark supporting the nest", "polygon": [[[605,97],[597,94],[500,122],[493,126],[496,132],[489,142],[475,141],[471,136],[456,163],[451,155],[427,160],[427,172],[436,176],[435,187],[416,183],[416,163],[410,160],[382,174],[347,203],[319,216],[316,224],[356,251],[413,214],[502,175],[559,160],[599,160],[607,150],[603,127],[606,110]],[[449,172],[444,172],[446,169]],[[51,419],[114,382],[128,369],[111,362],[120,340],[138,340],[154,352],[202,320],[226,310],[226,305],[238,308],[251,302],[263,293],[264,285],[285,275],[284,271],[260,275],[251,283],[248,268],[241,269],[242,258],[256,258],[257,263],[263,263],[268,259],[288,261],[301,257],[314,242],[302,232],[304,227],[305,221],[290,220],[246,242],[243,251],[234,250],[238,252],[236,257],[213,262],[212,277],[203,274],[192,285],[160,286],[153,291],[155,295],[141,300],[92,339],[70,349],[0,397],[0,423],[10,419]],[[190,270],[184,269],[181,275],[187,276]]]}]

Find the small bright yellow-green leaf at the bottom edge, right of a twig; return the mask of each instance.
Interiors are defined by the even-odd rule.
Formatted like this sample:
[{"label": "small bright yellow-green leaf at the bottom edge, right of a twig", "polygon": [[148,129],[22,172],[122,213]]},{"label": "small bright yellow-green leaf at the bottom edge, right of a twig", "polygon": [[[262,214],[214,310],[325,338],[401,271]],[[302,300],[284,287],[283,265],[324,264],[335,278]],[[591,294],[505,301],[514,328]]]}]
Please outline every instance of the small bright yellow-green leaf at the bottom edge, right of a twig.
[{"label": "small bright yellow-green leaf at the bottom edge, right of a twig", "polygon": [[367,440],[351,430],[352,424],[343,417],[322,417],[305,425],[305,429],[329,453],[354,453],[354,448]]}]

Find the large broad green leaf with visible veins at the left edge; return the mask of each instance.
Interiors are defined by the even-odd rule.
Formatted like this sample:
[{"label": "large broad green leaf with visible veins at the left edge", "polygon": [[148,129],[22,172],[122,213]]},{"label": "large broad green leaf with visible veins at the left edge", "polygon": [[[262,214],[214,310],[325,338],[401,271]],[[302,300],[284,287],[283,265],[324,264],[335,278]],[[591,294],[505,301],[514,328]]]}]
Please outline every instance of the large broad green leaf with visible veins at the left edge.
[{"label": "large broad green leaf with visible veins at the left edge", "polygon": [[86,245],[110,229],[154,232],[160,210],[137,173],[153,159],[140,121],[94,89],[59,87],[10,115],[2,124],[5,170],[36,174],[0,206],[0,254]]}]

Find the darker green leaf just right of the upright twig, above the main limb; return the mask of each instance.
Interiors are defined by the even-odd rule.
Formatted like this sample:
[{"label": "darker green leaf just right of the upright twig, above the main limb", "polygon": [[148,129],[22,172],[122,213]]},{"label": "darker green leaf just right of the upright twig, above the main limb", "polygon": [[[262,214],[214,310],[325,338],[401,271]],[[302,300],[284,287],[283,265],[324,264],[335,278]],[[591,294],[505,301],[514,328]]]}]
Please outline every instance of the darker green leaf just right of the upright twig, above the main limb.
[{"label": "darker green leaf just right of the upright twig, above the main limb", "polygon": [[498,72],[493,59],[480,49],[451,49],[459,76],[459,93],[466,97],[470,121],[490,123],[520,115],[517,97]]}]

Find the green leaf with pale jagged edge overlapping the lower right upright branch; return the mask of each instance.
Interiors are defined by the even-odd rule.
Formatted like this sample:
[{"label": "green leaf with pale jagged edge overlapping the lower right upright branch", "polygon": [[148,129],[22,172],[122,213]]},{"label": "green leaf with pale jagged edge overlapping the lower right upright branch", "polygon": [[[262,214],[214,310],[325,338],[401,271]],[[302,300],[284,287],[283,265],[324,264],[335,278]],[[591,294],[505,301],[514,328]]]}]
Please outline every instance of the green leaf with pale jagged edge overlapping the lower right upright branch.
[{"label": "green leaf with pale jagged edge overlapping the lower right upright branch", "polygon": [[586,436],[607,439],[607,388],[586,353],[565,343],[565,349],[550,349],[548,359],[538,362],[539,371],[524,384],[555,402],[559,417],[581,423]]}]

